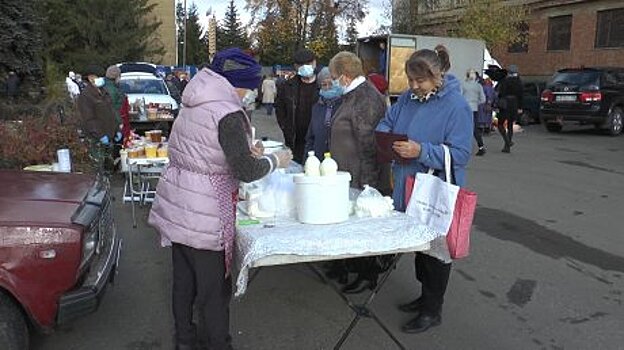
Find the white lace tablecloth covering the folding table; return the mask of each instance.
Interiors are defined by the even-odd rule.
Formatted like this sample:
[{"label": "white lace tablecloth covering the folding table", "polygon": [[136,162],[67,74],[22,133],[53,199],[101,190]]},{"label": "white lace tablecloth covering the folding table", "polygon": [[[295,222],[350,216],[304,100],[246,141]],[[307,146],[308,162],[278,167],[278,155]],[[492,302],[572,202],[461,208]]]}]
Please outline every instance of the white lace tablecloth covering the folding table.
[{"label": "white lace tablecloth covering the folding table", "polygon": [[278,218],[274,227],[258,224],[237,230],[237,297],[247,289],[250,268],[424,251],[437,237],[400,212],[384,218],[351,217],[333,225]]}]

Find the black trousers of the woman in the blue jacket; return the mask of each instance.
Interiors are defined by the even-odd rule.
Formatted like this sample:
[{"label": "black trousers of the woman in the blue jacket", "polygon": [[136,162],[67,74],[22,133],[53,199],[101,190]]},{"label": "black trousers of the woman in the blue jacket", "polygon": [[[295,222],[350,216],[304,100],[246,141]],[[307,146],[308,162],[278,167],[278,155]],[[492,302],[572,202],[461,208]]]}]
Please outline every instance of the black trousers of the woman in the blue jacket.
[{"label": "black trousers of the woman in the blue jacket", "polygon": [[421,283],[420,299],[424,314],[437,315],[442,312],[444,293],[451,275],[451,264],[432,256],[416,253],[416,279]]}]

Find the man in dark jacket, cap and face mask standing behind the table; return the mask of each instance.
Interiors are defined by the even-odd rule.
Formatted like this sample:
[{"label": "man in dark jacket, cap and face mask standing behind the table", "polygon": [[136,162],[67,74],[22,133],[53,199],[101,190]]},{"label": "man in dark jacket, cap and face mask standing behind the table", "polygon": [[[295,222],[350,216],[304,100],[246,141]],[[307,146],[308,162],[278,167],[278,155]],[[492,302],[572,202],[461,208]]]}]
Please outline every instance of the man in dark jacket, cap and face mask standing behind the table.
[{"label": "man in dark jacket, cap and face mask standing behind the table", "polygon": [[318,101],[319,92],[314,53],[301,49],[295,53],[294,61],[297,75],[278,86],[275,114],[286,146],[293,151],[293,159],[302,163],[312,106]]}]

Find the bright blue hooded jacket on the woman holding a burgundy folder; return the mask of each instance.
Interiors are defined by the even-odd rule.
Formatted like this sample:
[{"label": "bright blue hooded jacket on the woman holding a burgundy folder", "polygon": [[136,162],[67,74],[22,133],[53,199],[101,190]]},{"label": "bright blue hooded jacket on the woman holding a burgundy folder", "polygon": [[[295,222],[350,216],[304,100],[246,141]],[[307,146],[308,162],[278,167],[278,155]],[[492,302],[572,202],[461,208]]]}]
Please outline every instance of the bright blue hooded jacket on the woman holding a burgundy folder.
[{"label": "bright blue hooded jacket on the woman holding a burgundy folder", "polygon": [[[403,93],[388,110],[377,126],[378,131],[407,134],[410,140],[420,143],[420,157],[408,164],[394,163],[394,206],[405,210],[405,179],[429,168],[444,169],[444,149],[449,147],[455,172],[455,183],[463,186],[466,165],[472,148],[473,116],[468,103],[461,95],[460,82],[447,74],[438,93],[426,102],[411,99],[411,91]],[[439,172],[445,179],[444,171]]]}]

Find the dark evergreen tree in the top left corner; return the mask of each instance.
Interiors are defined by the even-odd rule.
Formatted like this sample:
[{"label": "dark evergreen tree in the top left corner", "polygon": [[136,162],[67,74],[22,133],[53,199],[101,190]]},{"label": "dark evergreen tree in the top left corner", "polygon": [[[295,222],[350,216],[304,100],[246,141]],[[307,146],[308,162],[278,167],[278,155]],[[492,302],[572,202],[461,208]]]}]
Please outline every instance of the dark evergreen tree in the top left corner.
[{"label": "dark evergreen tree in the top left corner", "polygon": [[0,73],[41,73],[39,52],[42,41],[37,23],[39,21],[33,2],[0,2]]}]

